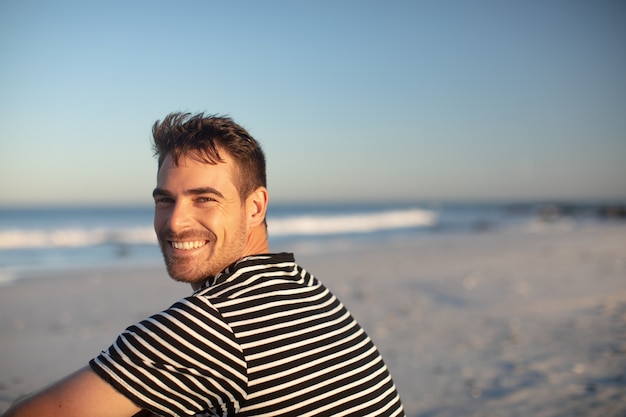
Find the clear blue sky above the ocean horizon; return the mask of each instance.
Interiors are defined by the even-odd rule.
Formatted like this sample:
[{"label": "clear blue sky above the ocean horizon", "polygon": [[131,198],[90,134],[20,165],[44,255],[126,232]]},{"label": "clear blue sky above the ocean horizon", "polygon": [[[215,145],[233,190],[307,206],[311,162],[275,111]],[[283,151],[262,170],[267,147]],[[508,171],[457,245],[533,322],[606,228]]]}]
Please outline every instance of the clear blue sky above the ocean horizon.
[{"label": "clear blue sky above the ocean horizon", "polygon": [[227,114],[285,200],[626,198],[626,2],[0,1],[0,205],[150,204]]}]

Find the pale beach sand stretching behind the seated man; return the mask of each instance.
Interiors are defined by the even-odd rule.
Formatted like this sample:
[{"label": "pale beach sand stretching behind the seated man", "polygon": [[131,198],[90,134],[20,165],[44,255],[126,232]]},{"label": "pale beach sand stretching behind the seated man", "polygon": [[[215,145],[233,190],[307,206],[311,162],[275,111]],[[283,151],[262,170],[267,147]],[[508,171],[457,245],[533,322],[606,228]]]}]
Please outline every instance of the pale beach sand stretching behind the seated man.
[{"label": "pale beach sand stretching behind the seated man", "polygon": [[[409,417],[625,416],[626,224],[536,226],[294,251]],[[160,265],[30,275],[0,288],[0,410],[190,292]]]}]

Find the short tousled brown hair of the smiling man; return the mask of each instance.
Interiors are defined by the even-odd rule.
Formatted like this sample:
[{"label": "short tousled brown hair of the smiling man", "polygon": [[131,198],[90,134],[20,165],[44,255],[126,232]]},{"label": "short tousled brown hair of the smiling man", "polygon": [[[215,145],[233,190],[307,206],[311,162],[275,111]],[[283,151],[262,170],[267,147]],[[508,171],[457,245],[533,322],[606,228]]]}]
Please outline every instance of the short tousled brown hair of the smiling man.
[{"label": "short tousled brown hair of the smiling man", "polygon": [[207,164],[223,162],[220,151],[230,155],[238,170],[238,190],[242,199],[258,187],[266,187],[265,155],[261,145],[232,119],[204,113],[170,113],[152,126],[153,150],[158,168],[168,154],[175,164],[181,156],[194,157]]}]

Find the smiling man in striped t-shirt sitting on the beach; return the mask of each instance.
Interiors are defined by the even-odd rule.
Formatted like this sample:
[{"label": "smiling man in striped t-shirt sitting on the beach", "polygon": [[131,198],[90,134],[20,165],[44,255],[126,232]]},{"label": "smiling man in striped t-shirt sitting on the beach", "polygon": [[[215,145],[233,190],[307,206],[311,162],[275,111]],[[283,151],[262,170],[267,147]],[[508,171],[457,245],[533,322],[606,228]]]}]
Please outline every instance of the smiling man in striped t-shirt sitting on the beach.
[{"label": "smiling man in striped t-shirt sitting on the beach", "polygon": [[154,228],[191,296],[6,416],[403,416],[380,354],[291,254],[270,254],[265,157],[224,117],[153,127]]}]

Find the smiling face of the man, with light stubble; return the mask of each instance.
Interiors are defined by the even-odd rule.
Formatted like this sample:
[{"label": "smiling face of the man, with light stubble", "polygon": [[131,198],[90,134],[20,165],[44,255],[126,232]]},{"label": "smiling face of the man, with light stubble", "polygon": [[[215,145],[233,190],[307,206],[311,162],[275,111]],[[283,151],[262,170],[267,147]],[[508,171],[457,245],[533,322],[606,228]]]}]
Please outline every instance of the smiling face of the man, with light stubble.
[{"label": "smiling face of the man, with light stubble", "polygon": [[201,284],[244,254],[248,226],[235,163],[221,154],[216,165],[184,156],[175,165],[168,155],[159,170],[154,230],[177,281]]}]

